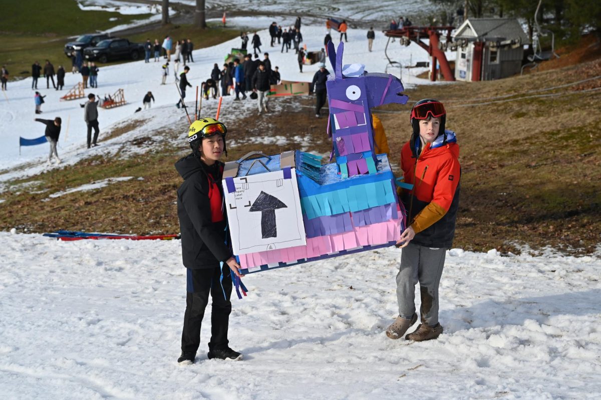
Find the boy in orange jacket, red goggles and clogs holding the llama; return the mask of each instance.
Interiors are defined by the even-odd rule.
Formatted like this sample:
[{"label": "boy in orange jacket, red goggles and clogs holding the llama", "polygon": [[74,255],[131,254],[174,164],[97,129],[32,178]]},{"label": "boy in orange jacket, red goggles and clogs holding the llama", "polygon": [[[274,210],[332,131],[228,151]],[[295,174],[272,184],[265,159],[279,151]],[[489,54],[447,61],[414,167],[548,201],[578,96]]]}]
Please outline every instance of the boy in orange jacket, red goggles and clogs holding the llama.
[{"label": "boy in orange jacket, red goggles and clogs holding the llama", "polygon": [[396,278],[398,317],[386,330],[391,339],[403,337],[417,321],[417,282],[421,324],[405,338],[436,339],[443,330],[438,321],[438,286],[445,254],[453,244],[461,175],[457,137],[445,129],[446,117],[438,100],[419,100],[411,110],[413,134],[401,150],[404,182],[412,188],[401,193],[409,226],[397,242],[403,253]]}]

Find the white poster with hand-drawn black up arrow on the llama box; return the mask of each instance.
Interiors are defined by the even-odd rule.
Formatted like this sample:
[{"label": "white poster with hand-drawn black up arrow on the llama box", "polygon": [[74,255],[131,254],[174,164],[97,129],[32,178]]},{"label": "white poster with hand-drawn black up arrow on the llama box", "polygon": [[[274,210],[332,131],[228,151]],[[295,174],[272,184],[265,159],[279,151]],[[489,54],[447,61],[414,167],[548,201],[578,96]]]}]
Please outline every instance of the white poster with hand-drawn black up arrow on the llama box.
[{"label": "white poster with hand-drawn black up arrow on the llama box", "polygon": [[234,254],[307,244],[294,168],[235,177],[229,186],[224,181]]}]

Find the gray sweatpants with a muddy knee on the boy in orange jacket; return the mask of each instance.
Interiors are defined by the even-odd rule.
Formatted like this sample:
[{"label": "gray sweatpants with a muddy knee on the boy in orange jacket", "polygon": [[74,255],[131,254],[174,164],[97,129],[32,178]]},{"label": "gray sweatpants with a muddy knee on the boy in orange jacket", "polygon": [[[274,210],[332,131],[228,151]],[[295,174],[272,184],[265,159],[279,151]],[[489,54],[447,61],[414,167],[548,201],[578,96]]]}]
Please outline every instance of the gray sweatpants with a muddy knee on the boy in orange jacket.
[{"label": "gray sweatpants with a muddy knee on the boy in orange jacket", "polygon": [[409,242],[401,253],[397,274],[398,315],[411,319],[415,313],[415,284],[419,282],[423,324],[438,324],[438,285],[445,264],[446,248],[430,248]]}]

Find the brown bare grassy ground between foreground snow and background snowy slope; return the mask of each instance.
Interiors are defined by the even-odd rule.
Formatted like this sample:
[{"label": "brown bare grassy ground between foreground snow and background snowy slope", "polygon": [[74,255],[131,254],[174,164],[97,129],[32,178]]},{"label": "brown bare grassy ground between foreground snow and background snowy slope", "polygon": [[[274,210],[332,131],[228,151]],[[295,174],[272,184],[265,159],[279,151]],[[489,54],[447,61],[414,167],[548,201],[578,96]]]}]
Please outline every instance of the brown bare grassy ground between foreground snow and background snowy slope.
[{"label": "brown bare grassy ground between foreground snow and background snowy slope", "polygon": [[[462,192],[456,247],[513,253],[523,245],[549,245],[572,254],[596,250],[601,242],[601,90],[596,90],[601,79],[555,87],[599,75],[597,59],[499,81],[422,86],[406,92],[413,101],[442,100],[448,110],[447,128],[459,138]],[[329,152],[327,119],[314,117],[312,97],[272,101],[284,111],[229,124],[228,138],[239,145],[228,147],[228,160],[251,150],[270,154],[300,149],[302,143],[295,139],[299,137],[310,143],[312,152]],[[410,135],[409,111],[409,104],[374,110],[385,126],[395,170]],[[268,123],[260,118],[268,118]],[[113,134],[123,129],[115,127]],[[249,144],[266,131],[287,137],[288,143]],[[175,189],[181,178],[173,164],[185,152],[185,144],[177,148],[161,144],[142,157],[92,158],[13,182],[0,195],[6,200],[0,208],[0,229],[177,233]],[[143,180],[44,200],[52,192],[114,176]],[[27,182],[33,183],[25,188]]]}]

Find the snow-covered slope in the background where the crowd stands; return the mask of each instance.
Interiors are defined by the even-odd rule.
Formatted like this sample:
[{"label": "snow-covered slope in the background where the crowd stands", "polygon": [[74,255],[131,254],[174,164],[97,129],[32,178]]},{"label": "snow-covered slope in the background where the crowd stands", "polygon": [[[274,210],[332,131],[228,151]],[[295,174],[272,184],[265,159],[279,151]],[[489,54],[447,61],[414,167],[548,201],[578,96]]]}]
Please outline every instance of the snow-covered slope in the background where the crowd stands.
[{"label": "snow-covered slope in the background where the crowd stands", "polygon": [[[289,23],[294,20],[291,18]],[[304,66],[304,72],[299,72],[296,55],[294,52],[281,53],[281,47],[269,46],[269,34],[267,29],[258,32],[261,40],[267,45],[261,46],[261,50],[270,53],[272,66],[279,66],[281,78],[288,81],[311,81],[318,65]],[[322,48],[325,29],[323,26],[304,26],[303,35],[305,43],[310,51],[319,51]],[[345,43],[344,63],[365,63],[366,69],[370,72],[383,72],[388,61],[384,55],[384,48],[387,38],[382,33],[376,32],[374,41],[374,52],[367,52],[367,40],[365,39],[364,29],[349,29],[349,42]],[[334,42],[338,45],[338,37],[334,36]],[[194,51],[195,63],[190,64],[191,70],[188,74],[189,81],[194,87],[188,88],[186,100],[188,105],[194,103],[195,86],[210,76],[213,64],[216,63],[221,69],[225,55],[231,48],[238,48],[240,40],[234,38],[221,45],[211,48],[198,49]],[[411,61],[427,61],[427,52],[412,44],[408,47],[400,46],[398,43],[392,43],[389,49],[390,57],[395,61],[400,61],[406,66]],[[450,54],[449,54],[450,55]],[[261,57],[262,58],[262,57]],[[61,58],[61,60],[63,60]],[[115,93],[119,88],[124,89],[127,104],[124,106],[102,109],[99,108],[100,123],[100,146],[94,149],[86,149],[86,131],[84,122],[84,110],[80,107],[86,99],[59,101],[59,97],[66,94],[69,88],[72,88],[81,80],[79,74],[70,73],[70,63],[63,61],[55,62],[55,69],[60,64],[66,66],[67,75],[65,78],[66,90],[56,91],[43,88],[43,79],[38,82],[38,91],[46,96],[45,103],[41,110],[43,114],[34,114],[34,91],[31,90],[31,78],[21,81],[9,82],[8,91],[4,94],[6,97],[0,97],[0,182],[16,177],[31,176],[40,173],[48,168],[66,168],[81,159],[93,155],[115,155],[121,156],[136,155],[144,153],[151,148],[139,143],[132,146],[132,141],[141,140],[149,137],[151,140],[180,140],[182,150],[187,148],[185,141],[186,125],[188,125],[185,113],[181,109],[175,108],[175,102],[178,99],[178,92],[174,84],[174,64],[171,63],[171,75],[169,75],[167,85],[160,85],[162,75],[163,59],[155,63],[136,61],[132,63],[119,64],[114,66],[100,66],[98,84],[99,88],[88,88],[85,94],[94,93],[97,96]],[[331,70],[328,61],[328,68]],[[182,72],[183,65],[179,71]],[[410,81],[410,84],[427,84],[425,79],[418,79],[415,76],[409,76],[423,72],[424,68],[403,69],[402,79],[404,82]],[[398,76],[399,69],[391,69],[389,72]],[[156,103],[150,110],[144,110],[135,113],[135,110],[142,106],[142,97],[147,91],[152,91]],[[224,97],[221,119],[227,123],[240,115],[252,115],[257,112],[257,103],[252,100],[245,102],[233,102],[234,96]],[[203,101],[203,113],[215,115],[216,100]],[[282,99],[270,99],[272,112],[285,112],[285,107],[293,106],[292,102],[285,102]],[[189,108],[193,109],[193,108]],[[47,166],[44,162],[47,157],[48,147],[46,144],[31,147],[22,147],[21,155],[18,150],[18,138],[35,138],[44,134],[44,125],[34,122],[34,118],[52,119],[54,117],[63,118],[63,129],[58,143],[58,153],[63,164],[56,166]],[[269,116],[263,115],[263,122],[269,122]],[[323,120],[324,126],[326,120]],[[130,125],[130,131],[124,135],[106,139],[115,129],[120,126]],[[132,124],[135,124],[133,126]],[[165,131],[170,132],[165,132]],[[156,131],[162,131],[159,138],[156,137]],[[230,140],[236,140],[234,132],[228,137]],[[269,138],[270,143],[273,139]],[[150,141],[149,141],[150,143]],[[260,144],[260,143],[257,143]],[[305,149],[310,150],[310,149]]]}]

